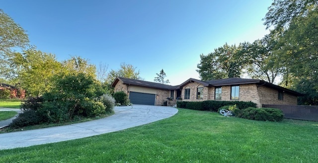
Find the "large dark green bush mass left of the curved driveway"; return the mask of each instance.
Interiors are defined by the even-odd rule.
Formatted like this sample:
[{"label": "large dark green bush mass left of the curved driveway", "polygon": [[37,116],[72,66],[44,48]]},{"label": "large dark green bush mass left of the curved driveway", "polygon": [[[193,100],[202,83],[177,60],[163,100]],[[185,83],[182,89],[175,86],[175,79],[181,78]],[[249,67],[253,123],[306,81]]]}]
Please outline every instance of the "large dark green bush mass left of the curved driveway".
[{"label": "large dark green bush mass left of the curved driveway", "polygon": [[[82,73],[57,77],[50,92],[45,92],[42,97],[28,98],[22,103],[21,109],[25,111],[11,126],[61,123],[75,117],[105,114],[104,104],[94,100],[102,95],[100,88],[100,84],[91,76]],[[36,118],[32,118],[32,115]]]}]

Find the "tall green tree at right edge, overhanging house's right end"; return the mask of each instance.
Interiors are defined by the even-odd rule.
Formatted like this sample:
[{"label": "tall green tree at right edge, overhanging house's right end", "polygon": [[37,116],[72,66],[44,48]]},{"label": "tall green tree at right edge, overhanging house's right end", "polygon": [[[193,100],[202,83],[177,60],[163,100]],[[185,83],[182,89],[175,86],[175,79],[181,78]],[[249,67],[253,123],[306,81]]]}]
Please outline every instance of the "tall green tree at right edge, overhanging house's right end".
[{"label": "tall green tree at right edge, overhanging house's right end", "polygon": [[279,36],[272,58],[284,68],[282,84],[306,93],[303,103],[318,104],[310,100],[318,93],[318,0],[274,0],[264,20]]}]

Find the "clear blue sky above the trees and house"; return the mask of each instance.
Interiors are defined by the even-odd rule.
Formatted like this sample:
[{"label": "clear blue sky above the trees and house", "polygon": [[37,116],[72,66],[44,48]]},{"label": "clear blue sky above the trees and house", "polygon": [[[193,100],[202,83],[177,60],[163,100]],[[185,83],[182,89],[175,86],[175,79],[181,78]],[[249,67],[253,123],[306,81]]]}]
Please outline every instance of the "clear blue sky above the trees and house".
[{"label": "clear blue sky above the trees and house", "polygon": [[1,0],[31,45],[59,61],[80,56],[117,70],[132,64],[145,81],[164,70],[171,85],[196,72],[200,54],[269,33],[271,0]]}]

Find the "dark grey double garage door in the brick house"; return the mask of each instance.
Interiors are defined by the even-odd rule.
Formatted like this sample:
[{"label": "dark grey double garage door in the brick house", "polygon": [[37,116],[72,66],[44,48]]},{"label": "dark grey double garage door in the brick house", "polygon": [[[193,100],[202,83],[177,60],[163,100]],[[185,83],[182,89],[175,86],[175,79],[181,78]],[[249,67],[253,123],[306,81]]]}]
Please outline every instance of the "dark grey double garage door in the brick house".
[{"label": "dark grey double garage door in the brick house", "polygon": [[155,105],[156,94],[129,92],[130,102],[138,105]]}]

